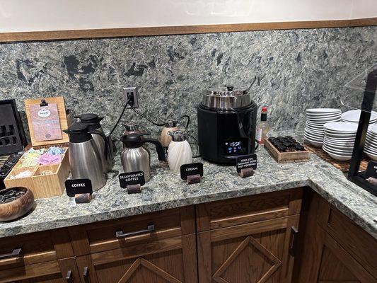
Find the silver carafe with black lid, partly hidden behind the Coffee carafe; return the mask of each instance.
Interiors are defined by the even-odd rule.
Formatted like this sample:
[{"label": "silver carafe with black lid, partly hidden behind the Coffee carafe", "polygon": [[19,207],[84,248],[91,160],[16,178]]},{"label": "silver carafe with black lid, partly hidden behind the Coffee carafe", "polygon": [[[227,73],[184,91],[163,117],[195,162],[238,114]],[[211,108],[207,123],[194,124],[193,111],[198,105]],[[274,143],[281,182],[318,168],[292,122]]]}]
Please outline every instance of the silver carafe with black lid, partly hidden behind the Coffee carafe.
[{"label": "silver carafe with black lid, partly hidden behind the Coffee carafe", "polygon": [[[83,124],[89,125],[90,131],[101,132],[102,134],[105,134],[102,126],[100,125],[100,121],[103,120],[103,117],[100,117],[97,114],[88,113],[78,115],[75,118],[79,118]],[[114,166],[114,150],[112,149],[111,137],[110,135],[108,135],[108,154],[106,156],[104,155],[105,141],[103,140],[103,138],[98,134],[92,134],[92,137],[94,139],[95,146],[97,146],[98,152],[100,153],[103,172],[108,173],[112,169],[112,166]]]}]

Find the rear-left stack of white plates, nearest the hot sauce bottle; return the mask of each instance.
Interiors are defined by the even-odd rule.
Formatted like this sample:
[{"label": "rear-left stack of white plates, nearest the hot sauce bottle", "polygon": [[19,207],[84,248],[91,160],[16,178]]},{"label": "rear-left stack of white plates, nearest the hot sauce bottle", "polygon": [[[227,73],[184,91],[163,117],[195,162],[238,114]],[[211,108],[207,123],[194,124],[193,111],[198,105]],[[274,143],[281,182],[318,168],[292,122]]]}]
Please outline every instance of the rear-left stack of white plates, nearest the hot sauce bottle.
[{"label": "rear-left stack of white plates, nearest the hot sauce bottle", "polygon": [[333,108],[306,109],[305,141],[316,147],[321,147],[325,133],[323,125],[342,119],[342,111]]}]

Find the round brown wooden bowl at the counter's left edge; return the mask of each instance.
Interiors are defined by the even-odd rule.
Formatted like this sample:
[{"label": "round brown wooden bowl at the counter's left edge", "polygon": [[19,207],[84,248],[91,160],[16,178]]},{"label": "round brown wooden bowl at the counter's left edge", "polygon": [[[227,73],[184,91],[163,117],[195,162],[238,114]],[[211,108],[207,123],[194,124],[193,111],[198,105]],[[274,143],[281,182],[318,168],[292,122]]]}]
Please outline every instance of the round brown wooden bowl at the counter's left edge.
[{"label": "round brown wooden bowl at the counter's left edge", "polygon": [[10,187],[8,189],[0,190],[0,195],[4,195],[10,190],[14,190],[16,192],[23,190],[26,192],[25,195],[22,195],[12,202],[0,203],[0,221],[18,219],[27,214],[34,206],[34,195],[31,190],[25,187]]}]

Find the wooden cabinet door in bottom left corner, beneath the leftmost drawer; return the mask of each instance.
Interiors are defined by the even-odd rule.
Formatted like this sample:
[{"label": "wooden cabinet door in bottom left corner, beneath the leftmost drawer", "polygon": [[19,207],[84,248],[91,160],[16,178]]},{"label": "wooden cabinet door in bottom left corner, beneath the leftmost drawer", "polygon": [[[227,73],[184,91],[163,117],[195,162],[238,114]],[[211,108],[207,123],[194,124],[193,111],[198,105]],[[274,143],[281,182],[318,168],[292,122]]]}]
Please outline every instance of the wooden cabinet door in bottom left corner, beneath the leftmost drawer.
[{"label": "wooden cabinet door in bottom left corner, beneath the leftmost drawer", "polygon": [[74,258],[67,258],[1,270],[0,282],[79,283],[80,277]]}]

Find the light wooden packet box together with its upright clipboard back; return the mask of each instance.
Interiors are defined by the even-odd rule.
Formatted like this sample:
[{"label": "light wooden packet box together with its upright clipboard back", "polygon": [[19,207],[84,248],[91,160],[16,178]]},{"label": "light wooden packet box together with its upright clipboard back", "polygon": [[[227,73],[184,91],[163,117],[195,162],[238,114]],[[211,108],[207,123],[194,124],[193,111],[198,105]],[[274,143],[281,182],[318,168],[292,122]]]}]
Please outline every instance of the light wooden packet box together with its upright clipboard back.
[{"label": "light wooden packet box together with its upright clipboard back", "polygon": [[[60,127],[61,129],[66,129],[68,127],[63,97],[25,100],[25,110],[26,116],[28,117],[28,125],[31,138],[31,144],[26,146],[25,150],[28,151],[28,149],[30,149],[31,147],[33,147],[34,149],[48,149],[50,148],[50,146],[59,146],[64,149],[64,154],[62,154],[62,161],[54,165],[21,167],[21,163],[25,160],[23,157],[21,157],[18,163],[16,163],[16,166],[13,167],[12,171],[4,180],[6,187],[27,187],[33,192],[36,199],[62,195],[65,190],[64,182],[69,176],[68,135],[62,132],[62,139],[52,141],[36,141],[34,139],[33,127],[31,127],[30,121],[29,107],[30,105],[40,104],[42,100],[45,100],[46,103],[57,104]],[[17,175],[18,173],[27,170],[32,172],[32,175],[30,177],[11,179],[11,176]],[[52,173],[42,175],[42,172],[44,171],[51,171]]]}]

